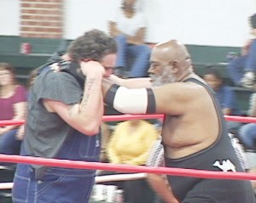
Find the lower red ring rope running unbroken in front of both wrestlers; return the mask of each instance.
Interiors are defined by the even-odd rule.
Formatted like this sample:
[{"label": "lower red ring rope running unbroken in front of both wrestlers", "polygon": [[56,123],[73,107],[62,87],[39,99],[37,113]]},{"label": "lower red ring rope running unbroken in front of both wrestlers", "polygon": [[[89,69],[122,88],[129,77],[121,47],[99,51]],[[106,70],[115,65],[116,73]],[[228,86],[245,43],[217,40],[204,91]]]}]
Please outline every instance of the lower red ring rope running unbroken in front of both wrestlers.
[{"label": "lower red ring rope running unbroken in front of both wrestlers", "polygon": [[215,179],[239,179],[239,180],[256,180],[256,175],[247,172],[213,172],[205,170],[174,168],[174,167],[153,167],[153,166],[131,166],[121,164],[109,164],[100,162],[86,162],[86,161],[69,161],[45,159],[32,156],[19,155],[0,155],[0,161],[12,163],[26,163],[44,166],[57,166],[66,168],[79,169],[95,169],[121,172],[147,172],[156,174],[166,174],[183,177],[195,178],[215,178]]}]

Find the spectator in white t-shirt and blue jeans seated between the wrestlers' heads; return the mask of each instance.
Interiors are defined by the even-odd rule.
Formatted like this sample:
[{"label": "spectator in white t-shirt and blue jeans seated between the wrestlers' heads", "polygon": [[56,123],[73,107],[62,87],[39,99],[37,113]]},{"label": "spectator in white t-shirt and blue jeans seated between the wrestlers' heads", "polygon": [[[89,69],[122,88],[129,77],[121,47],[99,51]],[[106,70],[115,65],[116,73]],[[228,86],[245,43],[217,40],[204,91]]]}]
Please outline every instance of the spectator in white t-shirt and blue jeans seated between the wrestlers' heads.
[{"label": "spectator in white t-shirt and blue jeans seated between the wrestlers' heads", "polygon": [[126,69],[130,70],[128,77],[148,76],[151,49],[144,44],[146,24],[144,14],[138,7],[138,0],[123,0],[122,7],[109,20],[110,35],[118,45],[115,72],[118,76],[124,76]]}]

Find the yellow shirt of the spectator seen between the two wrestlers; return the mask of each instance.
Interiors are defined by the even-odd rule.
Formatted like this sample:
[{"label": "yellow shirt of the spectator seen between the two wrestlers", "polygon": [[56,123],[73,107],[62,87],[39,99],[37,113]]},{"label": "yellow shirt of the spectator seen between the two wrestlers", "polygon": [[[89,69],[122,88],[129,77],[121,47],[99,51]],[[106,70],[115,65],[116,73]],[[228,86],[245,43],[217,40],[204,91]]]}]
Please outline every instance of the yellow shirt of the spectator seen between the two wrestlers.
[{"label": "yellow shirt of the spectator seen between the two wrestlers", "polygon": [[148,121],[137,120],[136,127],[124,121],[115,128],[108,144],[110,163],[145,165],[148,151],[158,138],[158,131]]}]

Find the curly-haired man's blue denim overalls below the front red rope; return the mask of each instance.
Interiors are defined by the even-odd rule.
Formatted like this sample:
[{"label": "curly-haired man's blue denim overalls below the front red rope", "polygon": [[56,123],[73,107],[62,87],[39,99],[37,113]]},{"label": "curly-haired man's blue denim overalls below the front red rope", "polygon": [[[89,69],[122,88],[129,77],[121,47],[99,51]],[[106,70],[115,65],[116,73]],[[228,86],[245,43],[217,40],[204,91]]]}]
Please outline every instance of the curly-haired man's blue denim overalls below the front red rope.
[{"label": "curly-haired man's blue denim overalls below the front red rope", "polygon": [[13,203],[87,203],[95,182],[93,173],[74,175],[73,169],[48,168],[35,178],[32,166],[19,164],[15,173]]}]

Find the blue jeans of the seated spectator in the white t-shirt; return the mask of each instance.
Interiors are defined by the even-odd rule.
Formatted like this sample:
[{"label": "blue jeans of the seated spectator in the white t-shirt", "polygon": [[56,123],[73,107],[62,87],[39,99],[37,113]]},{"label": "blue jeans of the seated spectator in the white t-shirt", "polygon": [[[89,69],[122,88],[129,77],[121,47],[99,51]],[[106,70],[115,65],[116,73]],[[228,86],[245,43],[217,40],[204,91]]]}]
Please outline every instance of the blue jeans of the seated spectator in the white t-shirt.
[{"label": "blue jeans of the seated spectator in the white t-shirt", "polygon": [[129,68],[130,77],[143,77],[148,76],[149,57],[151,48],[145,44],[128,44],[125,35],[115,37],[118,45],[117,53],[117,67],[127,67],[127,59],[131,57],[132,65]]}]

